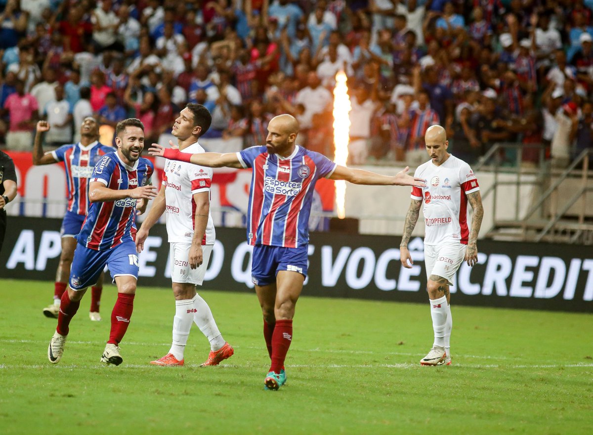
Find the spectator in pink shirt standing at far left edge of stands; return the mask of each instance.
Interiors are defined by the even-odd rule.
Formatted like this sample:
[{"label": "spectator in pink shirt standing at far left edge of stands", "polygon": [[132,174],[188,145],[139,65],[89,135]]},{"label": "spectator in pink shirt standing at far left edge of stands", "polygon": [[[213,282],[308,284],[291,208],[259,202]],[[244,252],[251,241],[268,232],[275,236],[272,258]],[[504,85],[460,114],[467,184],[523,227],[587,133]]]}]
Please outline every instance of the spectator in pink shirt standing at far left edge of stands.
[{"label": "spectator in pink shirt standing at far left edge of stands", "polygon": [[30,151],[33,148],[33,128],[37,122],[37,100],[25,93],[23,80],[15,81],[16,92],[8,96],[4,109],[8,112],[9,128],[6,135],[8,150]]}]

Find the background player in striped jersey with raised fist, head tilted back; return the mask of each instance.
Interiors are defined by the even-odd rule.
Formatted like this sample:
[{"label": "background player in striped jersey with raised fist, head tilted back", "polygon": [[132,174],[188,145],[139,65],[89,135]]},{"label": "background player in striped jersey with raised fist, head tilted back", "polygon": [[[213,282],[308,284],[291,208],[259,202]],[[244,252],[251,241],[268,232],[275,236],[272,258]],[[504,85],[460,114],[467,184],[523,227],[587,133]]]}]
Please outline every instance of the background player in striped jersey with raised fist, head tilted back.
[{"label": "background player in striped jersey with raised fist, head tilted back", "polygon": [[[43,134],[49,131],[47,121],[37,122],[37,133],[33,144],[33,164],[36,166],[52,163],[62,163],[66,172],[66,189],[68,190],[68,207],[62,220],[60,236],[62,236],[62,253],[56,271],[54,283],[53,303],[43,309],[46,317],[58,318],[60,299],[68,286],[68,275],[74,257],[76,239],[74,236],[80,232],[84,218],[87,216],[88,177],[93,173],[95,163],[101,156],[112,153],[114,148],[98,142],[99,125],[92,116],[82,120],[80,126],[80,142],[77,144],[63,145],[57,150],[43,154]],[[103,274],[97,284],[91,289],[91,309],[88,313],[91,320],[101,320],[99,305],[101,291],[103,290]]]}]

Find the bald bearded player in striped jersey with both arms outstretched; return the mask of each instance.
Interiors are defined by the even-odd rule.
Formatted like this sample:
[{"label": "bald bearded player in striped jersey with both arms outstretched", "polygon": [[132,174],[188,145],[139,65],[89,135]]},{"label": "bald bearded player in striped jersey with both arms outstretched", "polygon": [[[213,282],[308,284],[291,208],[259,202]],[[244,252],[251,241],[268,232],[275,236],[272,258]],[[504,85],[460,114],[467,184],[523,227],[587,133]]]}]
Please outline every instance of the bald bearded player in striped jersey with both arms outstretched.
[{"label": "bald bearded player in striped jersey with both arms outstretched", "polygon": [[284,361],[292,341],[295,305],[307,276],[308,216],[315,183],[320,177],[360,185],[418,186],[406,174],[394,177],[350,169],[299,147],[299,124],[291,115],[270,120],[266,145],[239,153],[187,154],[153,144],[152,155],[191,161],[209,167],[251,168],[247,237],[253,245],[251,275],[263,313],[263,334],[272,360],[264,379],[267,389],[286,382]]}]

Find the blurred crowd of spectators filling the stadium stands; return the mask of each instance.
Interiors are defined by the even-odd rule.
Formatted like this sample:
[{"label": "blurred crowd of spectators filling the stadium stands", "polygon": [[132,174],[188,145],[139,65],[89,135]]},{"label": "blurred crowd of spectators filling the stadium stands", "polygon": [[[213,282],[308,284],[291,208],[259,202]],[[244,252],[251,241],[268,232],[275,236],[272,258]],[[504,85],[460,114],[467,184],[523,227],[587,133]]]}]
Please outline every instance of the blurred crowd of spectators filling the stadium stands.
[{"label": "blurred crowd of spectators filling the stadium stands", "polygon": [[[291,113],[333,156],[332,89],[348,77],[350,163],[425,160],[429,125],[474,163],[493,142],[591,147],[593,0],[0,0],[0,142],[77,141],[85,116],[129,116],[148,141],[187,102],[205,138],[262,144]],[[76,126],[76,128],[74,128]],[[149,142],[150,143],[150,142]],[[537,161],[526,147],[525,162]]]}]

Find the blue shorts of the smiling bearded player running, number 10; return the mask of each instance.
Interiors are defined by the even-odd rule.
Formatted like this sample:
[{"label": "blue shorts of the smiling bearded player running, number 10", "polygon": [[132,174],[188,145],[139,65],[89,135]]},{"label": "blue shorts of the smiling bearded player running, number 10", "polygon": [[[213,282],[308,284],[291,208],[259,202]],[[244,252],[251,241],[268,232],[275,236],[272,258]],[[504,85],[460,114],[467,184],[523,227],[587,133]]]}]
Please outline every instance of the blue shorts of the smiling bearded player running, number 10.
[{"label": "blue shorts of the smiling bearded player running, number 10", "polygon": [[82,290],[96,284],[105,265],[109,267],[113,281],[121,275],[130,275],[137,280],[138,256],[135,243],[130,240],[104,251],[89,249],[78,243],[70,269],[70,288]]}]

